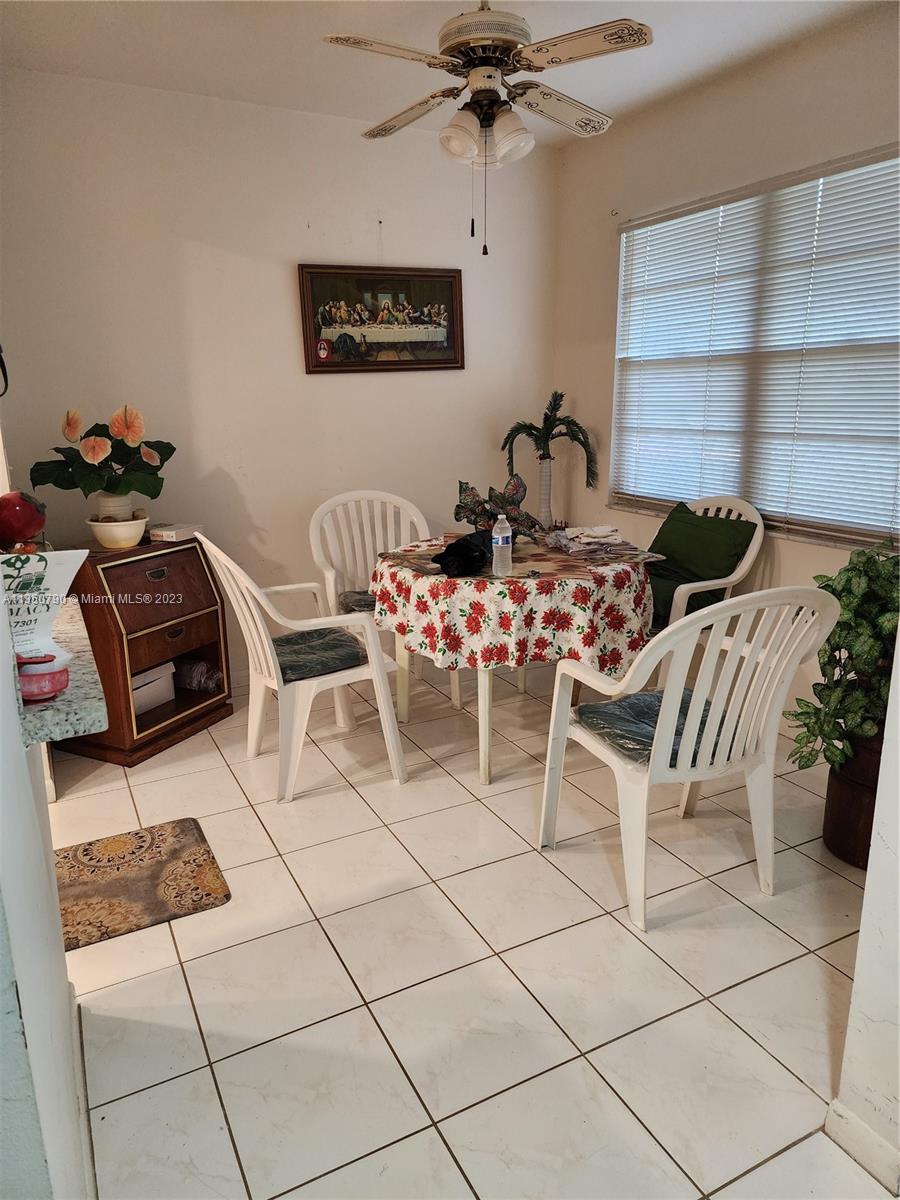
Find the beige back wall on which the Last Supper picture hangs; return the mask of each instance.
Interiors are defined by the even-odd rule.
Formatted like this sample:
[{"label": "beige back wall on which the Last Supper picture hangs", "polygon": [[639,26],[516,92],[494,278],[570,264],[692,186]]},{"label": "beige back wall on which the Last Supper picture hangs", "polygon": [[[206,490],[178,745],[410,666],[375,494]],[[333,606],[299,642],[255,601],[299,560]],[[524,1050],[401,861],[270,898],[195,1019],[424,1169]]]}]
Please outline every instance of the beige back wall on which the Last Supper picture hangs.
[{"label": "beige back wall on which the Last Supper picture hangs", "polygon": [[[440,530],[458,479],[503,484],[503,434],[551,382],[547,151],[491,178],[484,258],[469,172],[433,133],[364,142],[348,120],[24,71],[5,101],[13,486],[67,406],[134,404],[178,446],[154,516],[280,582],[314,577],[310,515],[336,492],[398,492]],[[462,268],[466,370],[306,376],[299,262]],[[41,494],[58,542],[84,534],[90,502]]]}]

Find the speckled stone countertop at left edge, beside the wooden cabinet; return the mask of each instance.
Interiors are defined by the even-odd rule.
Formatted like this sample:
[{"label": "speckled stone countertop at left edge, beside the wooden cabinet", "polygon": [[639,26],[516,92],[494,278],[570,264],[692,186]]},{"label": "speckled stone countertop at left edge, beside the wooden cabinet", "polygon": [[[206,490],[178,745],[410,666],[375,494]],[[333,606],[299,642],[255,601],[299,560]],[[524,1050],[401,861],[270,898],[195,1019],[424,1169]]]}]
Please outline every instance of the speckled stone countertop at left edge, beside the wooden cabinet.
[{"label": "speckled stone countertop at left edge, beside the wooden cabinet", "polygon": [[108,725],[103,689],[77,600],[67,600],[60,608],[53,624],[53,638],[72,655],[68,688],[61,696],[41,704],[23,704],[19,698],[25,745],[98,733]]}]

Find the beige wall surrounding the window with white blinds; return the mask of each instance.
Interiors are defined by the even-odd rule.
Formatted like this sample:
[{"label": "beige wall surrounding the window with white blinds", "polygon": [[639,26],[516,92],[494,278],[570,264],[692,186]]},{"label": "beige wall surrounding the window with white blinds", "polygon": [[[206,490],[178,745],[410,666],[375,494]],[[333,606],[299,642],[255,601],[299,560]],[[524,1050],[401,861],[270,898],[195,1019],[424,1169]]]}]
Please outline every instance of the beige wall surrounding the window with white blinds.
[{"label": "beige wall surrounding the window with white blinds", "polygon": [[[575,398],[600,452],[596,492],[570,476],[572,520],[611,520],[640,545],[659,523],[606,508],[617,227],[895,140],[896,79],[898,10],[860,5],[848,23],[654,104],[560,154],[553,379]],[[846,553],[768,536],[750,584],[808,583],[814,574],[834,571]]]}]

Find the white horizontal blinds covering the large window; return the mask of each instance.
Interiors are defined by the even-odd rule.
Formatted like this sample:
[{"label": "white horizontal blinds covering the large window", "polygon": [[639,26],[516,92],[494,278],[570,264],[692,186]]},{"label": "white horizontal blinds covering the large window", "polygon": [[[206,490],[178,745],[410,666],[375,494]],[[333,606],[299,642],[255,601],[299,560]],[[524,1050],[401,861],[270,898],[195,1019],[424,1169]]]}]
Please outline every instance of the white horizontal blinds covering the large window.
[{"label": "white horizontal blinds covering the large window", "polygon": [[898,161],[622,235],[613,503],[898,528]]}]

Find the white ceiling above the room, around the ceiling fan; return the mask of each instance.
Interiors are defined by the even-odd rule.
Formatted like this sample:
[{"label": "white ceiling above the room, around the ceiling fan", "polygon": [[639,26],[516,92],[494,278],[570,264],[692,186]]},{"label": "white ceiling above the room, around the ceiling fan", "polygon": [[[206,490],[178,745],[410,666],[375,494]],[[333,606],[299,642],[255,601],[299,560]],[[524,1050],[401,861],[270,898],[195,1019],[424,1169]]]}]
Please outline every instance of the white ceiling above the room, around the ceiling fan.
[{"label": "white ceiling above the room, around the ceiling fan", "polygon": [[[533,36],[622,16],[653,28],[653,46],[547,72],[558,90],[620,118],[859,8],[857,0],[498,0]],[[475,0],[5,0],[2,61],[218,96],[374,124],[450,76],[420,64],[326,46],[325,34],[362,34],[437,50],[439,25]],[[551,78],[552,77],[552,78]],[[445,113],[421,126],[439,128]],[[544,143],[566,140],[530,122]],[[539,127],[538,127],[539,126]],[[402,136],[402,134],[400,134]]]}]

